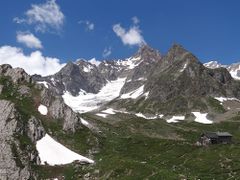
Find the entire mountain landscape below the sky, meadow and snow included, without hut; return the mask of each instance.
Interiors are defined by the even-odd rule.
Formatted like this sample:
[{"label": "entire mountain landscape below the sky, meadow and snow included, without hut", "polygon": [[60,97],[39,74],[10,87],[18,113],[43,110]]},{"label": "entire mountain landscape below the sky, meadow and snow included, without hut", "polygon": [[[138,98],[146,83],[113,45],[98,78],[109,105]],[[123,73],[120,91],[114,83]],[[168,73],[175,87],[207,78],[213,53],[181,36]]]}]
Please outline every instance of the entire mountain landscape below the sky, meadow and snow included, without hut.
[{"label": "entire mountain landscape below the sky, meadow and snow included, without hut", "polygon": [[0,65],[0,179],[239,177],[237,143],[195,146],[205,130],[240,141],[239,77],[178,44],[46,77]]}]

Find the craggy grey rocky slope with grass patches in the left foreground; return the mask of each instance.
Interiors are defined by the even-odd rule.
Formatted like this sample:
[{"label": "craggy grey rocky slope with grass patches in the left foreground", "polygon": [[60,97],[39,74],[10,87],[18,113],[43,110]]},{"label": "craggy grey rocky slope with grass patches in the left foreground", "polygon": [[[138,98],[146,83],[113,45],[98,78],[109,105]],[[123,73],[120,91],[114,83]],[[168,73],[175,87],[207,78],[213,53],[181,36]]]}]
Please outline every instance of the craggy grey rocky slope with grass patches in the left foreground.
[{"label": "craggy grey rocky slope with grass patches in the left foreground", "polygon": [[[23,69],[0,66],[0,179],[38,179],[36,143],[53,132],[49,123],[66,132],[83,127],[79,115],[53,94]],[[46,116],[40,104],[47,107]]]}]

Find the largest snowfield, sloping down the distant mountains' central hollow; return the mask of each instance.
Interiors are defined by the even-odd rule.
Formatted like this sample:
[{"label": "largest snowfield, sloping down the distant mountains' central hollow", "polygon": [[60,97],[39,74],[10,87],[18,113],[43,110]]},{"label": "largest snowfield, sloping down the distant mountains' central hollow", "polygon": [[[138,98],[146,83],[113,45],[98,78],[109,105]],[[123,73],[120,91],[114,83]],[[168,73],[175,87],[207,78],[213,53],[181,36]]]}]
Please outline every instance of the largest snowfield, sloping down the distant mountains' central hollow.
[{"label": "largest snowfield, sloping down the distant mountains' central hollow", "polygon": [[97,94],[82,93],[72,96],[71,93],[63,94],[64,102],[75,112],[84,113],[99,108],[102,104],[109,102],[119,96],[126,78],[109,81]]}]

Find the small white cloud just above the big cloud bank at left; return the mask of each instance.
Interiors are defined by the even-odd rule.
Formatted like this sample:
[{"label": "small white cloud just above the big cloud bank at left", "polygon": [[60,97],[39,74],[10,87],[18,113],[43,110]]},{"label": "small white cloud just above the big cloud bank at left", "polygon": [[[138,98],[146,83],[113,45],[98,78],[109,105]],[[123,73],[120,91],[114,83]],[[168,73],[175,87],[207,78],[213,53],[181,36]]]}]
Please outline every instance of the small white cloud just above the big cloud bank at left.
[{"label": "small white cloud just above the big cloud bank at left", "polygon": [[22,43],[29,48],[43,48],[42,42],[29,32],[17,32],[17,42]]}]

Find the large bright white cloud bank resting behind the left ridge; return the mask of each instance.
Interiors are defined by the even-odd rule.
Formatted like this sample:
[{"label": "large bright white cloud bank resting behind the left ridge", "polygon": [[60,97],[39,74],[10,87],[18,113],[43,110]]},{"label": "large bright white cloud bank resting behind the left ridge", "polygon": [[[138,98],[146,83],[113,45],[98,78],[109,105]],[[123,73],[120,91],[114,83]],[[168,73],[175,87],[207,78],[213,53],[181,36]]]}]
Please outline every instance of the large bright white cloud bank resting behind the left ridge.
[{"label": "large bright white cloud bank resting behind the left ridge", "polygon": [[22,49],[12,46],[0,47],[0,64],[23,68],[28,74],[47,76],[58,72],[65,64],[52,57],[44,57],[40,51],[25,55]]}]

